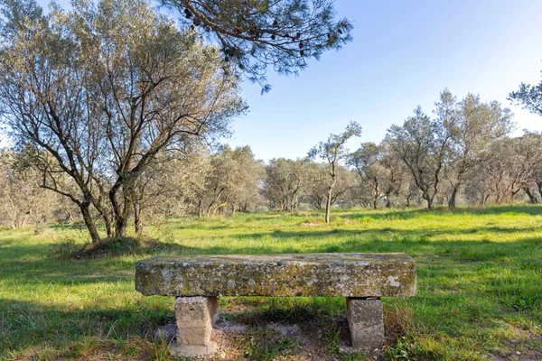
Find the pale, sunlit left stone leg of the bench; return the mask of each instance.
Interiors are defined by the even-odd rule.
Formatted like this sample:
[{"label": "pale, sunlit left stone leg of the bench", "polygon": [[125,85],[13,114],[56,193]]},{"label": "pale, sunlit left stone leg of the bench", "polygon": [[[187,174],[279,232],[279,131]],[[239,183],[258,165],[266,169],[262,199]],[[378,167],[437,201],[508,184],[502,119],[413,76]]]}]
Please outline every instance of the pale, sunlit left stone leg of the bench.
[{"label": "pale, sunlit left stone leg of the bench", "polygon": [[212,326],[219,319],[216,297],[179,297],[175,301],[177,349],[180,356],[210,355],[218,347],[210,341]]}]

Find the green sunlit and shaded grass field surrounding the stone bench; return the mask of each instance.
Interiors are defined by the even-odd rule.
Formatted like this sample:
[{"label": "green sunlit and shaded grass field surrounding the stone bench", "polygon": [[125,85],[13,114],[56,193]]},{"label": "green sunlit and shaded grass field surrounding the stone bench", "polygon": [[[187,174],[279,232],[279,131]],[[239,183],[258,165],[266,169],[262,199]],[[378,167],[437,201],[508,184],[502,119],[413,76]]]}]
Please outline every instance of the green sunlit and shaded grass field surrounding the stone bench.
[{"label": "green sunlit and shaded grass field surrounding the stone bench", "polygon": [[[540,206],[333,209],[330,225],[318,212],[270,212],[170,219],[147,232],[160,245],[75,260],[70,252],[86,239],[78,227],[51,225],[39,235],[0,230],[0,360],[171,359],[167,345],[148,335],[173,318],[173,300],[134,291],[136,260],[306,252],[406,252],[416,259],[418,296],[384,299],[387,326],[399,333],[388,359],[482,360],[516,351],[542,357]],[[246,308],[241,317],[255,323],[296,323],[339,317],[344,301],[248,298],[220,307],[227,316]],[[255,332],[239,343],[254,358],[295,348],[288,339],[269,348],[257,342],[264,331]],[[322,346],[329,355],[337,352],[333,332]]]}]

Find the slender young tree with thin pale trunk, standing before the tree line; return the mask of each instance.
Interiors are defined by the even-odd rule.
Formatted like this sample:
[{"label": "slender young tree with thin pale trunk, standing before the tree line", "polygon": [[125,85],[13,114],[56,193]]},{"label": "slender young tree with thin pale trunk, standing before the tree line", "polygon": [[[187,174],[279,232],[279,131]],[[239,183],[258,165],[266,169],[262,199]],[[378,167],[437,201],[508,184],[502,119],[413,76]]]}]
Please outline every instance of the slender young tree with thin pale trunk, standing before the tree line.
[{"label": "slender young tree with thin pale trunk, standing before the tree line", "polygon": [[350,122],[346,130],[341,134],[330,134],[327,141],[320,142],[311,149],[309,157],[312,159],[322,159],[327,165],[327,194],[325,206],[325,223],[330,223],[330,211],[332,207],[332,193],[337,181],[337,168],[340,163],[347,157],[348,149],[345,143],[352,136],[360,136],[361,126],[358,123]]}]

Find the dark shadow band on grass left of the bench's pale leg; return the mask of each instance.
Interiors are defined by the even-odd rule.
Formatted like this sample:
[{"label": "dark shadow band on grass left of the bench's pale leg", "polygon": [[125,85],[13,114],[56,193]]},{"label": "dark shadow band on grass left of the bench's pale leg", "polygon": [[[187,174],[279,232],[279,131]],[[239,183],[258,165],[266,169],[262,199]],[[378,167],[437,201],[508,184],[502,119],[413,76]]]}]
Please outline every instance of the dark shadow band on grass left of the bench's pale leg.
[{"label": "dark shadow band on grass left of the bench's pale leg", "polygon": [[120,308],[103,308],[93,304],[89,308],[73,309],[38,301],[0,299],[0,359],[2,351],[36,346],[65,349],[67,344],[84,338],[151,338],[156,325],[172,319],[173,308],[170,310],[164,304],[157,307],[150,300],[144,307],[126,304]]}]

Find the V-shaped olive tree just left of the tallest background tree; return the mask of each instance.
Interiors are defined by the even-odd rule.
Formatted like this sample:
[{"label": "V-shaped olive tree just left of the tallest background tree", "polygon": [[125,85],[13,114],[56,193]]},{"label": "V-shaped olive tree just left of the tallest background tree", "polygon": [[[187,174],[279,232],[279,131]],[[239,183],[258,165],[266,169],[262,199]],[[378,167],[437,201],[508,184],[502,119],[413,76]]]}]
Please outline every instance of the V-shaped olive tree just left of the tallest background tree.
[{"label": "V-shaped olive tree just left of the tallest background tree", "polygon": [[452,134],[445,123],[453,116],[453,101],[450,94],[443,92],[441,102],[437,103],[436,120],[426,116],[418,106],[403,126],[392,125],[388,129],[386,142],[405,162],[427,208],[433,208],[449,153]]}]

